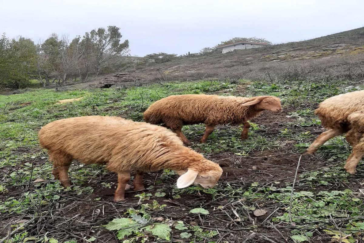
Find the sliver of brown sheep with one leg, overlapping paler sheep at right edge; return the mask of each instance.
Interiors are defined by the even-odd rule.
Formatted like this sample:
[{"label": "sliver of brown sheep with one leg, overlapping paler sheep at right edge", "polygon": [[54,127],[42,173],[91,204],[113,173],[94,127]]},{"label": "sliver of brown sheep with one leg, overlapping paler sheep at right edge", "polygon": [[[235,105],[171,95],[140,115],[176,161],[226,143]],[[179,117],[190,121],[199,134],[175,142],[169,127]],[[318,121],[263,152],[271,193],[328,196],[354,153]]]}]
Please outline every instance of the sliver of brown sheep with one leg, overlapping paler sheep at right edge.
[{"label": "sliver of brown sheep with one leg, overlapping paler sheep at right edge", "polygon": [[353,151],[349,155],[345,170],[350,173],[356,173],[356,166],[364,156],[364,111],[356,111],[348,115],[350,130],[346,134],[346,140],[353,146]]}]

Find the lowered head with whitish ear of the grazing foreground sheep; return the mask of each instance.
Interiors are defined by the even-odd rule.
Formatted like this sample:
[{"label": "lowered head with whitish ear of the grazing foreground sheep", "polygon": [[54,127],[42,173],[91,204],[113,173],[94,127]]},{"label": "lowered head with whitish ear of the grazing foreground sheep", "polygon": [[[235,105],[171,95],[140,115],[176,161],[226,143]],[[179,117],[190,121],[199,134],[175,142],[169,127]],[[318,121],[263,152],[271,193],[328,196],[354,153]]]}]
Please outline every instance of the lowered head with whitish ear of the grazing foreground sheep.
[{"label": "lowered head with whitish ear of the grazing foreground sheep", "polygon": [[[218,164],[209,162],[211,164],[209,163],[209,170],[206,171],[199,172],[192,168],[176,171],[180,175],[177,180],[177,187],[185,188],[194,183],[200,184],[203,188],[213,188],[222,175],[222,169]],[[201,167],[203,168],[203,165]]]}]

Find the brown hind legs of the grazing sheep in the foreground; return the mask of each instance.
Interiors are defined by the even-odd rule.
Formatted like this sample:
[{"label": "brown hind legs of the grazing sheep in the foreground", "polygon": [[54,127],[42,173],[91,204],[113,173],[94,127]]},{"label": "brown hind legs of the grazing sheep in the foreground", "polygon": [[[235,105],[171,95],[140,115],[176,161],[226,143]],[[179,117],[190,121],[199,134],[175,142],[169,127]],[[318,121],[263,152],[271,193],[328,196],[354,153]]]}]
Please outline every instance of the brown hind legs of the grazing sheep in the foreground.
[{"label": "brown hind legs of the grazing sheep in the foreground", "polygon": [[70,187],[71,182],[68,177],[68,168],[72,162],[72,156],[66,153],[50,152],[50,160],[53,161],[52,174],[59,180],[64,188]]}]

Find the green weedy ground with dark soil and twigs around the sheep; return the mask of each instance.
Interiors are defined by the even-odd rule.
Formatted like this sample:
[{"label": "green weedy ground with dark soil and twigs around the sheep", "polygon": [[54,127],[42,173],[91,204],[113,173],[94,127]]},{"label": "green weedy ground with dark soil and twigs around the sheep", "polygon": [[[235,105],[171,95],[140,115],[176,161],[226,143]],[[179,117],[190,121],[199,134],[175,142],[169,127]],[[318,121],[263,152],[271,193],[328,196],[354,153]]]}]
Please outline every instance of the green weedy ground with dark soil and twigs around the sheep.
[{"label": "green weedy ground with dark soil and twigs around the sheep", "polygon": [[[303,154],[322,130],[316,105],[363,88],[345,81],[241,80],[0,96],[0,242],[363,242],[364,170],[344,171],[351,149],[345,138],[328,141],[315,156]],[[251,121],[245,141],[238,139],[240,127],[226,125],[198,144],[203,126],[184,127],[193,149],[223,168],[212,189],[179,190],[177,176],[165,170],[146,176],[146,191],[114,203],[116,175],[103,166],[74,162],[74,186],[67,190],[52,178],[37,141],[41,126],[82,115],[141,121],[154,101],[188,93],[277,95],[284,111]]]}]

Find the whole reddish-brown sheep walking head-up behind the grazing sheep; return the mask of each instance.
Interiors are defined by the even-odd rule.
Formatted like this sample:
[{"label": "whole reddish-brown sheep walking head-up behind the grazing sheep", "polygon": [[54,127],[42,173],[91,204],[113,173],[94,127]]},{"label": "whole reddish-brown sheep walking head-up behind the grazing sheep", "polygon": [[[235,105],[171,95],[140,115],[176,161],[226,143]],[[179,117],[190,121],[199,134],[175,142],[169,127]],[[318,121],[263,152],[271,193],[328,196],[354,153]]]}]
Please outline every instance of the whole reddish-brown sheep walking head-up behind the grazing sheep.
[{"label": "whole reddish-brown sheep walking head-up behind the grazing sheep", "polygon": [[182,133],[183,125],[204,123],[206,131],[200,142],[205,143],[218,124],[244,124],[240,138],[247,139],[250,128],[248,120],[257,117],[263,110],[281,112],[280,99],[274,96],[171,95],[153,103],[144,112],[144,120],[151,124],[164,124],[184,144],[191,145]]}]

